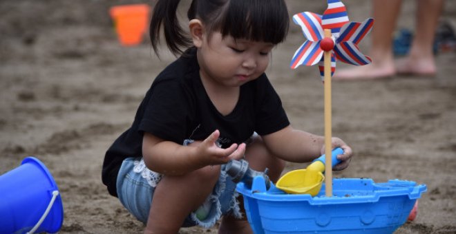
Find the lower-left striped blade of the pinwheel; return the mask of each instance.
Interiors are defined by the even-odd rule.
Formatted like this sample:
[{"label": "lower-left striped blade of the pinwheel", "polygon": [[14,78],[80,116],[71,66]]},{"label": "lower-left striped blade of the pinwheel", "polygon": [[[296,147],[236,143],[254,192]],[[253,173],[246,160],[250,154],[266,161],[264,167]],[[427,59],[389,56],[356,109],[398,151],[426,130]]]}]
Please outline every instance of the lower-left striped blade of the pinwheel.
[{"label": "lower-left striped blade of the pinwheel", "polygon": [[295,69],[299,65],[312,66],[318,63],[322,56],[323,50],[320,48],[320,41],[305,41],[294,53],[290,67]]}]

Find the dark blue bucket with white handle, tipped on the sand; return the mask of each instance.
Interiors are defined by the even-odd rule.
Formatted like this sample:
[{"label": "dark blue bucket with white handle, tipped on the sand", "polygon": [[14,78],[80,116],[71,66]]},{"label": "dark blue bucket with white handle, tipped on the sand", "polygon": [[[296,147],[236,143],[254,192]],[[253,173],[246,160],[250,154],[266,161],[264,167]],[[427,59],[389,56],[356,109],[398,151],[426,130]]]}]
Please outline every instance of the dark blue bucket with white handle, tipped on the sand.
[{"label": "dark blue bucket with white handle, tipped on the sand", "polygon": [[57,233],[64,208],[53,176],[37,158],[0,175],[0,233]]}]

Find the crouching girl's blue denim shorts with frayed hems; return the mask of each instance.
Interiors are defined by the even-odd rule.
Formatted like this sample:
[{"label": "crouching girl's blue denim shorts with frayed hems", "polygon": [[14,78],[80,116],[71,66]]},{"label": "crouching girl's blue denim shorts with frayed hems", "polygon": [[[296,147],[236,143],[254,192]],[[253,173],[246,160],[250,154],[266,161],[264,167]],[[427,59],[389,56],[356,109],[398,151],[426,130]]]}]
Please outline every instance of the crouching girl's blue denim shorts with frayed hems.
[{"label": "crouching girl's blue denim shorts with frayed hems", "polygon": [[[209,213],[204,219],[197,217],[195,212],[190,213],[184,220],[182,227],[200,225],[205,228],[213,226],[220,217],[231,214],[240,218],[237,201],[236,184],[225,172],[225,165],[220,169],[220,177],[205,205],[209,204]],[[117,196],[124,207],[144,224],[147,223],[151,209],[155,186],[160,182],[161,175],[145,167],[142,158],[126,158],[122,162],[117,175]]]}]

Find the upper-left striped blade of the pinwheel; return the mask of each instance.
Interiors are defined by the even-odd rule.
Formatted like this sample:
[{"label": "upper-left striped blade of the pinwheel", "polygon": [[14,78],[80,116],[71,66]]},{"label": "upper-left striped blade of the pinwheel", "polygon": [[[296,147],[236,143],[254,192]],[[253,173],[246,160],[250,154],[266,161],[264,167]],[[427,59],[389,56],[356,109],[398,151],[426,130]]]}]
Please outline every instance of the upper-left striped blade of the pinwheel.
[{"label": "upper-left striped blade of the pinwheel", "polygon": [[323,39],[323,28],[321,28],[321,15],[312,12],[301,12],[293,16],[293,21],[301,26],[305,38],[309,41],[320,41]]}]

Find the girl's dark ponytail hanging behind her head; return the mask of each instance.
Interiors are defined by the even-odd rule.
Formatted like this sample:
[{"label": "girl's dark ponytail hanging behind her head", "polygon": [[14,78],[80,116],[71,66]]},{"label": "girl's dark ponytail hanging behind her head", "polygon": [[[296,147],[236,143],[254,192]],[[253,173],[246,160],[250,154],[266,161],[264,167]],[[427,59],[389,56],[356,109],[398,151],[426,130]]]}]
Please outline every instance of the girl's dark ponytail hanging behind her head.
[{"label": "girl's dark ponytail hanging behind her head", "polygon": [[[191,40],[179,24],[177,9],[180,0],[159,0],[153,10],[149,34],[153,51],[158,54],[160,28],[163,26],[164,39],[173,54],[182,54],[182,47],[189,47]],[[193,5],[193,3],[192,3]]]}]

